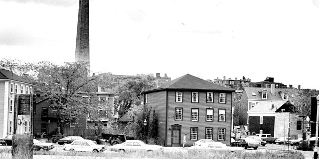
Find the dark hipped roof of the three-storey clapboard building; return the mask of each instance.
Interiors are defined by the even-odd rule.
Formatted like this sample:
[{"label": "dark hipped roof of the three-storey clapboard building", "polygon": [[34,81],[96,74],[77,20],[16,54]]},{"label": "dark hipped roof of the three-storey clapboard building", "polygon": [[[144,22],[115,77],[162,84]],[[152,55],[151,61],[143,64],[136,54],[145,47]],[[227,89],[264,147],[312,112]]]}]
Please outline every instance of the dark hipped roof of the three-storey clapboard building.
[{"label": "dark hipped roof of the three-storey clapboard building", "polygon": [[167,81],[157,88],[152,88],[144,92],[160,91],[165,89],[195,89],[195,90],[222,90],[222,91],[235,91],[231,88],[226,88],[221,85],[209,82],[204,79],[194,77],[186,74],[177,79]]}]

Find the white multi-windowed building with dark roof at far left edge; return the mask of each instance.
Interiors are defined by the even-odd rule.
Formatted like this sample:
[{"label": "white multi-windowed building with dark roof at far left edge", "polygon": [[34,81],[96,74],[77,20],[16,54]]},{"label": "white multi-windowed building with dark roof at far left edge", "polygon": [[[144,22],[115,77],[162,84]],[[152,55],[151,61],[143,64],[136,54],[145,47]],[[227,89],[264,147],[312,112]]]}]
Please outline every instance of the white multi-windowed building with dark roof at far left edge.
[{"label": "white multi-windowed building with dark roof at far left edge", "polygon": [[[13,133],[15,96],[17,94],[33,94],[34,85],[29,81],[0,69],[0,138]],[[19,134],[30,132],[31,120],[22,116],[18,120],[16,131]]]}]

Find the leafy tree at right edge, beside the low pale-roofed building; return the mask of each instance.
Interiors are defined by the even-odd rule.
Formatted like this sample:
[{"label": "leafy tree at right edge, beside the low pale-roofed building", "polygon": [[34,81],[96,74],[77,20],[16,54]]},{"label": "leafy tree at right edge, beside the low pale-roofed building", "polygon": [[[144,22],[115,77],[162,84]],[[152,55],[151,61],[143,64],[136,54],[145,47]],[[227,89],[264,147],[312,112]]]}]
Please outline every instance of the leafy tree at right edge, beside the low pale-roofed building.
[{"label": "leafy tree at right edge, beside the low pale-roofed building", "polygon": [[294,105],[291,109],[295,113],[311,116],[311,97],[317,96],[319,91],[316,89],[286,89],[288,100]]}]

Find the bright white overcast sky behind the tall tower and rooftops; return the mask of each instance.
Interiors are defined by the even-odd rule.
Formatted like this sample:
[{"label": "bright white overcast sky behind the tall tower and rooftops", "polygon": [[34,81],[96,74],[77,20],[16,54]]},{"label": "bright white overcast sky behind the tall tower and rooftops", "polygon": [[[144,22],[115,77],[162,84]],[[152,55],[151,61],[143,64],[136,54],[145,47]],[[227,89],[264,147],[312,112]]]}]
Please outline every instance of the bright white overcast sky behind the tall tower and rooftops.
[{"label": "bright white overcast sky behind the tall tower and rooftops", "polygon": [[[0,58],[74,62],[79,0],[0,0]],[[91,73],[319,89],[319,0],[90,0]]]}]

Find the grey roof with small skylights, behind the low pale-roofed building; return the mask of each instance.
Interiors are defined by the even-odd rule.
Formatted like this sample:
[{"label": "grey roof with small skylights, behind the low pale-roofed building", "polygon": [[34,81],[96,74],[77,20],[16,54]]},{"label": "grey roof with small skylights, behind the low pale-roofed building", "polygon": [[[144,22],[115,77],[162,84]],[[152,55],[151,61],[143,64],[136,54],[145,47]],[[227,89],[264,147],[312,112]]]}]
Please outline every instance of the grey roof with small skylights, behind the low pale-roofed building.
[{"label": "grey roof with small skylights, behind the low pale-roofed building", "polygon": [[[284,89],[282,88],[275,88],[275,94],[271,93],[271,88],[264,88],[264,87],[244,87],[244,92],[247,94],[248,99],[256,99],[262,100],[262,91],[267,90],[267,100],[283,100],[280,92]],[[256,95],[253,95],[255,93]]]}]

